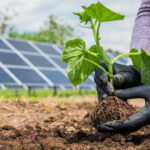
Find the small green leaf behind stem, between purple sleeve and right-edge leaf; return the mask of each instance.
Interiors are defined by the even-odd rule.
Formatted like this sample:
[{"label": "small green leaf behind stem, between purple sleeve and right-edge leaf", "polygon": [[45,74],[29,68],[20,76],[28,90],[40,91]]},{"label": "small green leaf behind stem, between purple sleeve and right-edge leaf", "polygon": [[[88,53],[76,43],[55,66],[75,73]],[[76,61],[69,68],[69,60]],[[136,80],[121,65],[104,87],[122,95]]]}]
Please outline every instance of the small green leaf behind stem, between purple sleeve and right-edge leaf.
[{"label": "small green leaf behind stem, between purple sleeve and right-edge leaf", "polygon": [[[137,49],[131,49],[130,53],[136,53],[138,52]],[[131,55],[129,56],[132,60],[132,64],[135,68],[138,68],[141,70],[141,55]]]}]

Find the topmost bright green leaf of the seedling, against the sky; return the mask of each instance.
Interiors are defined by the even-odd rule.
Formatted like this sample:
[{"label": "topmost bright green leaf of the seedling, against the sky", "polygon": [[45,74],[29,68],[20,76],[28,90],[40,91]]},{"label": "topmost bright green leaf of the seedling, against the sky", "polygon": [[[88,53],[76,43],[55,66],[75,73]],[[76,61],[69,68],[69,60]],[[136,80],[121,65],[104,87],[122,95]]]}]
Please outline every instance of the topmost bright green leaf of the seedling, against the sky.
[{"label": "topmost bright green leaf of the seedling, against the sky", "polygon": [[88,22],[90,18],[94,18],[99,22],[123,20],[124,16],[106,8],[99,1],[96,4],[91,4],[89,7],[82,7],[84,9],[81,13],[75,13],[80,17],[81,22]]}]

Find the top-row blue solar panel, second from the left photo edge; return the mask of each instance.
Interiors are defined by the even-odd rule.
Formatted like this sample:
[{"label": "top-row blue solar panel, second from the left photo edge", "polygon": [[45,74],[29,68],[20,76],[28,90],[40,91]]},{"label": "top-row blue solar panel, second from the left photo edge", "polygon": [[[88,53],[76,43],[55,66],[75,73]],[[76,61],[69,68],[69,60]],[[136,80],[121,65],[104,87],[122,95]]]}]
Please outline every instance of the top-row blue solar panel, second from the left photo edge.
[{"label": "top-row blue solar panel, second from the left photo edge", "polygon": [[36,52],[37,51],[27,42],[8,39],[8,41],[19,51]]}]

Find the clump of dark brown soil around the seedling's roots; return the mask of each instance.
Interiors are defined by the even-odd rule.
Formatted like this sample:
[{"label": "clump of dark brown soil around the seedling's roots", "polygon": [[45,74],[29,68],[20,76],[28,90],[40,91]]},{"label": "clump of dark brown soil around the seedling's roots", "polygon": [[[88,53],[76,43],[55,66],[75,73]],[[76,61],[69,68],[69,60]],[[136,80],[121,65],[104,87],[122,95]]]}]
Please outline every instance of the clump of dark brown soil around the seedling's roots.
[{"label": "clump of dark brown soil around the seedling's roots", "polygon": [[92,125],[98,130],[101,124],[108,121],[123,121],[133,115],[136,110],[126,101],[116,96],[109,96],[97,104],[91,113]]}]

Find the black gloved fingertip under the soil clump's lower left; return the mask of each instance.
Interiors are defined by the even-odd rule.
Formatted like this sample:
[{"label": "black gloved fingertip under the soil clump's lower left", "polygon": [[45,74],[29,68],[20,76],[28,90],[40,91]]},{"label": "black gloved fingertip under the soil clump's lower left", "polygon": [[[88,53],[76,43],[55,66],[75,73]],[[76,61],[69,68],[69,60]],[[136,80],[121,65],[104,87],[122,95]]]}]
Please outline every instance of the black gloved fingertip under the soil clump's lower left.
[{"label": "black gloved fingertip under the soil clump's lower left", "polygon": [[102,124],[98,129],[102,133],[119,133],[122,129],[122,123],[116,121],[110,121]]}]

